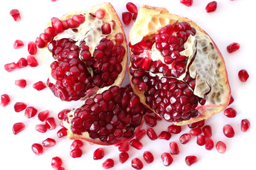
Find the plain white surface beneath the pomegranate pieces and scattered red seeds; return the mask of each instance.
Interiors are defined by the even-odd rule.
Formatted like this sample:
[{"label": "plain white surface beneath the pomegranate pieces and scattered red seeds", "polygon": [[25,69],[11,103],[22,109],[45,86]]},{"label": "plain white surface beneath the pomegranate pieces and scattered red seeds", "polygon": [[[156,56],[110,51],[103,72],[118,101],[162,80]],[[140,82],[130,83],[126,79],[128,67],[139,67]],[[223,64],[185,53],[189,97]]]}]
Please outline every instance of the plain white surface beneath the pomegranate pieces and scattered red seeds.
[{"label": "plain white surface beneath the pomegranate pieces and scattered red seeds", "polygon": [[[31,119],[25,118],[24,112],[15,113],[14,103],[23,101],[28,106],[34,106],[38,111],[49,110],[50,115],[56,117],[63,108],[73,108],[78,106],[80,102],[62,102],[55,98],[49,89],[36,91],[32,88],[36,81],[46,81],[46,65],[40,58],[40,52],[36,55],[39,66],[36,68],[26,67],[16,69],[14,72],[8,73],[4,70],[4,64],[9,62],[17,62],[21,57],[28,55],[26,46],[28,41],[35,40],[46,28],[46,23],[53,16],[60,17],[65,13],[89,8],[90,6],[101,4],[103,1],[93,0],[9,0],[0,6],[1,26],[0,26],[0,94],[9,94],[11,103],[5,108],[0,108],[0,169],[52,169],[50,161],[52,157],[58,156],[63,159],[63,166],[67,170],[71,169],[102,169],[102,162],[107,158],[114,159],[113,169],[132,169],[131,160],[138,157],[144,163],[144,169],[252,169],[255,166],[255,16],[256,1],[254,0],[219,0],[218,8],[213,13],[206,13],[205,6],[209,1],[194,0],[193,6],[187,7],[179,2],[179,0],[169,1],[134,1],[137,6],[149,4],[151,6],[166,7],[171,13],[179,16],[186,16],[198,23],[206,32],[215,40],[220,48],[228,69],[230,86],[235,102],[231,105],[238,111],[236,118],[226,118],[223,112],[214,115],[206,120],[206,124],[211,125],[213,129],[214,142],[222,140],[227,145],[225,154],[219,154],[215,148],[207,151],[204,147],[196,145],[196,137],[193,137],[187,145],[181,145],[180,154],[174,155],[174,162],[169,167],[165,167],[160,159],[163,152],[169,152],[169,142],[178,142],[178,137],[188,132],[186,126],[180,135],[173,135],[171,140],[155,140],[151,141],[148,137],[142,139],[144,147],[142,150],[136,150],[132,147],[129,149],[129,159],[124,164],[119,163],[119,151],[117,147],[103,147],[105,149],[105,157],[101,160],[94,161],[92,153],[100,146],[90,145],[85,142],[82,147],[82,157],[73,159],[70,157],[70,144],[72,141],[62,138],[58,139],[55,130],[41,134],[34,130],[35,125],[41,123],[37,116]],[[116,8],[119,16],[122,12],[127,11],[125,5],[128,1],[111,1]],[[15,22],[9,15],[13,8],[18,8],[21,12],[21,21]],[[128,33],[130,26],[124,26]],[[23,40],[25,47],[14,50],[14,40]],[[233,54],[226,51],[227,45],[231,42],[239,42],[240,50]],[[238,71],[247,69],[250,78],[246,83],[241,83],[238,79]],[[16,79],[26,79],[27,86],[21,89],[14,85]],[[127,78],[124,84],[127,84]],[[250,120],[251,127],[247,132],[240,131],[240,120],[247,118]],[[57,119],[56,119],[57,120]],[[12,126],[16,122],[26,124],[26,129],[18,135],[12,132]],[[228,139],[223,135],[223,125],[233,125],[235,129],[235,137]],[[154,128],[156,133],[166,130],[170,123],[161,121]],[[146,129],[146,125],[143,126]],[[45,148],[44,153],[38,157],[31,151],[31,145],[35,142],[41,143],[47,137],[53,137],[57,144],[53,148]],[[152,164],[146,164],[142,158],[144,151],[149,150],[154,154],[155,160]],[[187,155],[196,155],[198,162],[191,167],[187,166],[184,159]]]}]

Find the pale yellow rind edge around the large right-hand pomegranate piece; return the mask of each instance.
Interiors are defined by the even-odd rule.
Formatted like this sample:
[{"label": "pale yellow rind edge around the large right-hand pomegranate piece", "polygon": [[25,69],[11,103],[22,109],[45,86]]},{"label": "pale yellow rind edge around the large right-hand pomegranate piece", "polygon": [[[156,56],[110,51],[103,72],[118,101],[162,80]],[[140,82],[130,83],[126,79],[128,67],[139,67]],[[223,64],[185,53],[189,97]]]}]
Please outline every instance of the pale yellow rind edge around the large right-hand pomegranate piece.
[{"label": "pale yellow rind edge around the large right-hand pomegranate piece", "polygon": [[[198,116],[195,118],[190,118],[189,120],[183,120],[181,122],[174,122],[176,125],[187,125],[190,123],[194,123],[200,120],[204,120],[207,118],[210,118],[212,115],[215,115],[216,113],[219,113],[220,111],[223,111],[230,101],[230,84],[228,81],[228,73],[225,69],[225,61],[223,59],[223,56],[220,53],[220,50],[218,49],[217,45],[213,41],[212,38],[206,33],[202,28],[196,25],[193,21],[189,20],[188,18],[183,18],[181,16],[177,16],[174,14],[169,13],[169,11],[166,8],[159,8],[159,7],[153,7],[153,6],[147,6],[144,5],[142,8],[139,9],[137,20],[134,22],[134,25],[132,26],[132,29],[129,32],[129,43],[131,45],[134,45],[142,40],[150,40],[154,38],[154,35],[158,33],[158,30],[163,28],[164,26],[168,26],[169,24],[175,24],[178,22],[186,21],[191,25],[191,27],[196,29],[196,32],[200,32],[203,35],[206,35],[209,38],[209,42],[213,43],[213,47],[215,48],[215,51],[218,54],[219,60],[220,60],[220,66],[218,67],[218,74],[222,79],[218,80],[218,84],[221,84],[223,86],[223,90],[221,91],[222,98],[221,102],[218,104],[208,103],[206,101],[206,104],[201,106],[198,104],[197,110],[199,111]],[[132,48],[129,48],[130,54],[132,54]],[[129,68],[132,67],[132,63],[129,63]],[[132,84],[132,75],[129,74],[129,81],[132,86],[132,89],[134,90],[134,93],[137,94],[141,100],[141,102],[148,108],[149,105],[146,104],[146,97],[144,96],[144,91],[139,91],[138,86]],[[150,108],[151,109],[151,108]],[[152,109],[151,109],[152,110]],[[154,111],[154,110],[152,110]],[[154,113],[156,113],[154,111]],[[158,115],[158,114],[156,114]]]}]

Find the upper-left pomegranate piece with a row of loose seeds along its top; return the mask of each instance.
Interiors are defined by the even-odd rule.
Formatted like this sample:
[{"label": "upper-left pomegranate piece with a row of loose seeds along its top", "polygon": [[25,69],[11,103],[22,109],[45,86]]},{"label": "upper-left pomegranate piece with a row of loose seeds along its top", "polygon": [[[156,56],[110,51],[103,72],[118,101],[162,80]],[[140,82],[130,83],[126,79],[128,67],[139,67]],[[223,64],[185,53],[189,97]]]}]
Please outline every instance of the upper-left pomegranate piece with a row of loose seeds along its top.
[{"label": "upper-left pomegranate piece with a row of loose seeds along its top", "polygon": [[47,85],[62,101],[78,101],[105,86],[120,86],[127,41],[110,3],[53,17],[37,39],[50,65]]}]

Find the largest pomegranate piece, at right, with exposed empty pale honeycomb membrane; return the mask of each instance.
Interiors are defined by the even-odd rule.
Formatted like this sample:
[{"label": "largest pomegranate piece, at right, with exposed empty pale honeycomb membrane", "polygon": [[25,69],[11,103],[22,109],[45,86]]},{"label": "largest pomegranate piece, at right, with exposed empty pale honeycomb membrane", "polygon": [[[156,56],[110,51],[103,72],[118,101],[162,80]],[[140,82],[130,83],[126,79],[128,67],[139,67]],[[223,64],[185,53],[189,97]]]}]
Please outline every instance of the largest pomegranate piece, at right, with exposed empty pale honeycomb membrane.
[{"label": "largest pomegranate piece, at right, with exposed empty pale honeycomb membrane", "polygon": [[176,125],[209,118],[230,100],[218,47],[196,23],[142,6],[129,33],[129,80],[154,113]]}]

